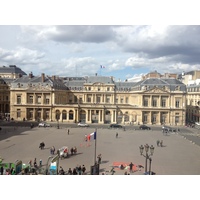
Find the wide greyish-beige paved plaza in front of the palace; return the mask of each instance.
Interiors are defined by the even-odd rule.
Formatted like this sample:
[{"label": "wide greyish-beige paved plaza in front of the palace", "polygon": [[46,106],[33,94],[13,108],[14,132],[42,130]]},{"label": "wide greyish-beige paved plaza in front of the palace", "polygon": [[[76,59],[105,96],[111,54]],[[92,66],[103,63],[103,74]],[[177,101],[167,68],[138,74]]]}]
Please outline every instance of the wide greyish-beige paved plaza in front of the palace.
[{"label": "wide greyish-beige paved plaza in front of the palace", "polygon": [[[70,130],[69,135],[67,130]],[[50,156],[50,148],[56,150],[62,146],[69,148],[76,146],[77,154],[60,159],[59,165],[65,171],[77,165],[85,165],[87,174],[90,174],[90,166],[95,161],[95,141],[86,142],[85,135],[94,132],[94,128],[72,128],[66,124],[60,129],[56,125],[48,128],[35,127],[3,127],[0,132],[0,157],[3,162],[15,162],[22,160],[28,163],[30,160],[42,159],[46,164]],[[118,138],[116,138],[118,132]],[[186,132],[186,131],[185,131]],[[192,135],[189,131],[188,134]],[[163,147],[157,147],[156,141],[163,140]],[[40,150],[40,142],[45,143],[45,149]],[[200,146],[186,139],[181,133],[163,135],[160,130],[134,130],[97,128],[96,156],[102,155],[100,174],[110,174],[113,163],[130,163],[145,166],[145,158],[140,155],[139,146],[154,145],[151,170],[156,175],[199,175],[200,174]],[[148,162],[149,167],[149,162]],[[116,175],[122,175],[128,169],[115,169]],[[131,173],[141,175],[144,169]]]}]

